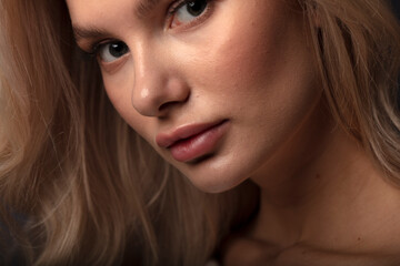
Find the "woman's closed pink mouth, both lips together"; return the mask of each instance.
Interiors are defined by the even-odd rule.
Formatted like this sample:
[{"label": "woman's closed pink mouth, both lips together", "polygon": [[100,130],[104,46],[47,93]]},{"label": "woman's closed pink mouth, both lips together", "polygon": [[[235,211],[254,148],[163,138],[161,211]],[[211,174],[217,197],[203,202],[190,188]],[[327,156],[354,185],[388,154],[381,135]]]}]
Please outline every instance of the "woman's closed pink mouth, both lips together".
[{"label": "woman's closed pink mouth, both lips together", "polygon": [[190,162],[214,150],[228,130],[228,122],[184,125],[169,134],[158,134],[156,142],[160,147],[168,149],[174,160]]}]

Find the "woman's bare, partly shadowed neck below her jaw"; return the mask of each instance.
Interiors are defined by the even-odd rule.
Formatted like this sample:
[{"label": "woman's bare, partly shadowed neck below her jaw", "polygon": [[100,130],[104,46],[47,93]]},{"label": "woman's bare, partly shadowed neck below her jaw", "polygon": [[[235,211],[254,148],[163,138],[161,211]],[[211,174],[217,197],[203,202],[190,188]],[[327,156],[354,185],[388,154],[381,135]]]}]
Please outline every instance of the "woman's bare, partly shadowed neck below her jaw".
[{"label": "woman's bare, partly shadowed neck below her jaw", "polygon": [[249,235],[281,249],[307,243],[367,250],[391,239],[390,228],[398,227],[398,190],[361,145],[321,112],[311,114],[277,161],[267,162],[252,181],[261,194]]}]

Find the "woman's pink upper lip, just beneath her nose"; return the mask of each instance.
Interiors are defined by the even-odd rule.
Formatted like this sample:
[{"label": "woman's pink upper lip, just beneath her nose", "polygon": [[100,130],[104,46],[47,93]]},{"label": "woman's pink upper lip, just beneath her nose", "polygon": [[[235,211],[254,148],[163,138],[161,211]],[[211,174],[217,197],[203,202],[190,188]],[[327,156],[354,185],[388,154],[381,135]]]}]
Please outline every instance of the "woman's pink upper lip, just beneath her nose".
[{"label": "woman's pink upper lip, just beneath her nose", "polygon": [[190,139],[197,134],[208,131],[209,129],[222,124],[223,122],[224,121],[181,125],[170,132],[159,133],[156,136],[156,143],[160,147],[170,147],[181,140]]}]

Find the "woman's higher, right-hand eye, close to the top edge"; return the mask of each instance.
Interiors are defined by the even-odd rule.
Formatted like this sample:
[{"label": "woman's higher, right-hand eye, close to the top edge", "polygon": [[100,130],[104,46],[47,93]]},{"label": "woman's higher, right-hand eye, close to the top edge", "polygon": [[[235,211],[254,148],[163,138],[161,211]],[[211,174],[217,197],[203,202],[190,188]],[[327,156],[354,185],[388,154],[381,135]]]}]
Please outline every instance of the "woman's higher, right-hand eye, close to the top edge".
[{"label": "woman's higher, right-hand eye, close to the top edge", "polygon": [[190,23],[201,17],[208,9],[210,0],[182,1],[173,8],[170,28]]}]

